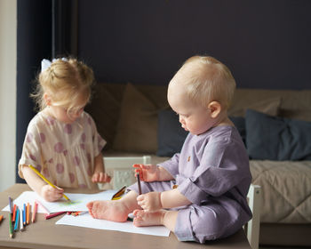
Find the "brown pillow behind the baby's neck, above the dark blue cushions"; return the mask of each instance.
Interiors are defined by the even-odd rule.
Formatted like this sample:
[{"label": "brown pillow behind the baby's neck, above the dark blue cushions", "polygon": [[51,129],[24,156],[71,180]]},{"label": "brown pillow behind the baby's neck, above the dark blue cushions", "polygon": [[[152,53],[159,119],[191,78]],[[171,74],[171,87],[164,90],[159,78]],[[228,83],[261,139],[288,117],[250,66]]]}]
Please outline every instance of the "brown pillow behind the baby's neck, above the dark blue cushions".
[{"label": "brown pillow behind the baby's neck, above the dark blue cushions", "polygon": [[245,116],[246,109],[250,108],[270,116],[277,116],[280,104],[281,98],[273,97],[244,105],[242,108],[233,105],[228,109],[227,113],[228,116]]}]

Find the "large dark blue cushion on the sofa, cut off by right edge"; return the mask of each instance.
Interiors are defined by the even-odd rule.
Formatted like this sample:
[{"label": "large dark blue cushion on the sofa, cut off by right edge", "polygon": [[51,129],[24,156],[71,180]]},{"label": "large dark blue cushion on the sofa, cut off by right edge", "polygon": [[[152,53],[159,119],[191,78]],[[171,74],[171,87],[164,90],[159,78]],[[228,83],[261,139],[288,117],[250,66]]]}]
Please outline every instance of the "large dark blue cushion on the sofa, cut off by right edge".
[{"label": "large dark blue cushion on the sofa, cut off by right edge", "polygon": [[251,159],[310,160],[311,123],[248,109],[246,146]]}]

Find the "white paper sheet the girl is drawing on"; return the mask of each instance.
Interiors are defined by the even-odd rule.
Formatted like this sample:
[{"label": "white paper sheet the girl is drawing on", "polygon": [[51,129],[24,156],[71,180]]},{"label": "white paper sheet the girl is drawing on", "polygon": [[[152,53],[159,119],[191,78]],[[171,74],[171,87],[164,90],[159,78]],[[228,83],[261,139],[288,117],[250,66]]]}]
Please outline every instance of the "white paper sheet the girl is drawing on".
[{"label": "white paper sheet the girl is drawing on", "polygon": [[[65,193],[66,196],[71,200],[69,203],[65,199],[61,199],[57,202],[47,202],[44,198],[40,197],[34,191],[25,191],[20,197],[13,200],[13,204],[23,207],[24,204],[34,205],[35,200],[42,203],[50,213],[61,212],[61,211],[87,211],[86,204],[94,200],[111,200],[117,190],[102,191],[97,194],[71,194]],[[2,211],[10,211],[9,205],[5,206]],[[45,213],[44,209],[38,205],[37,213]]]}]

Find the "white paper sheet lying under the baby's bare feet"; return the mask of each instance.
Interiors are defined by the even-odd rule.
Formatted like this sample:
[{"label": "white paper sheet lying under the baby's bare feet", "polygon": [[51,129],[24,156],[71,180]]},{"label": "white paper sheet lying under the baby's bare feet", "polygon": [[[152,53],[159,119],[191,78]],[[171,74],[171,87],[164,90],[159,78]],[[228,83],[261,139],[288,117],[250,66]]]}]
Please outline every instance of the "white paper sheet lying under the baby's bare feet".
[{"label": "white paper sheet lying under the baby's bare feet", "polygon": [[126,222],[114,222],[93,219],[89,213],[83,215],[73,216],[65,215],[56,222],[56,225],[69,225],[76,227],[83,227],[89,229],[104,229],[122,231],[128,233],[138,233],[153,236],[169,237],[170,230],[163,226],[152,226],[152,227],[140,227],[137,228],[132,224],[132,221]]}]

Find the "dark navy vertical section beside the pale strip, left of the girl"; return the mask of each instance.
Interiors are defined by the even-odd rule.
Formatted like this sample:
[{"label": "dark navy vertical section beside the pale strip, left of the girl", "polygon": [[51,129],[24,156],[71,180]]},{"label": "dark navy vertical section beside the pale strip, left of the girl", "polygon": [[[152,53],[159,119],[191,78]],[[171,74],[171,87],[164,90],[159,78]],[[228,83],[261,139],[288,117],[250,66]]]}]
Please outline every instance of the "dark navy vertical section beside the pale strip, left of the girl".
[{"label": "dark navy vertical section beside the pale strip, left of the girl", "polygon": [[[16,164],[20,161],[28,123],[35,115],[33,92],[36,74],[43,58],[51,58],[52,2],[19,0],[17,2],[17,102],[16,102]],[[20,179],[16,171],[16,182]]]}]

